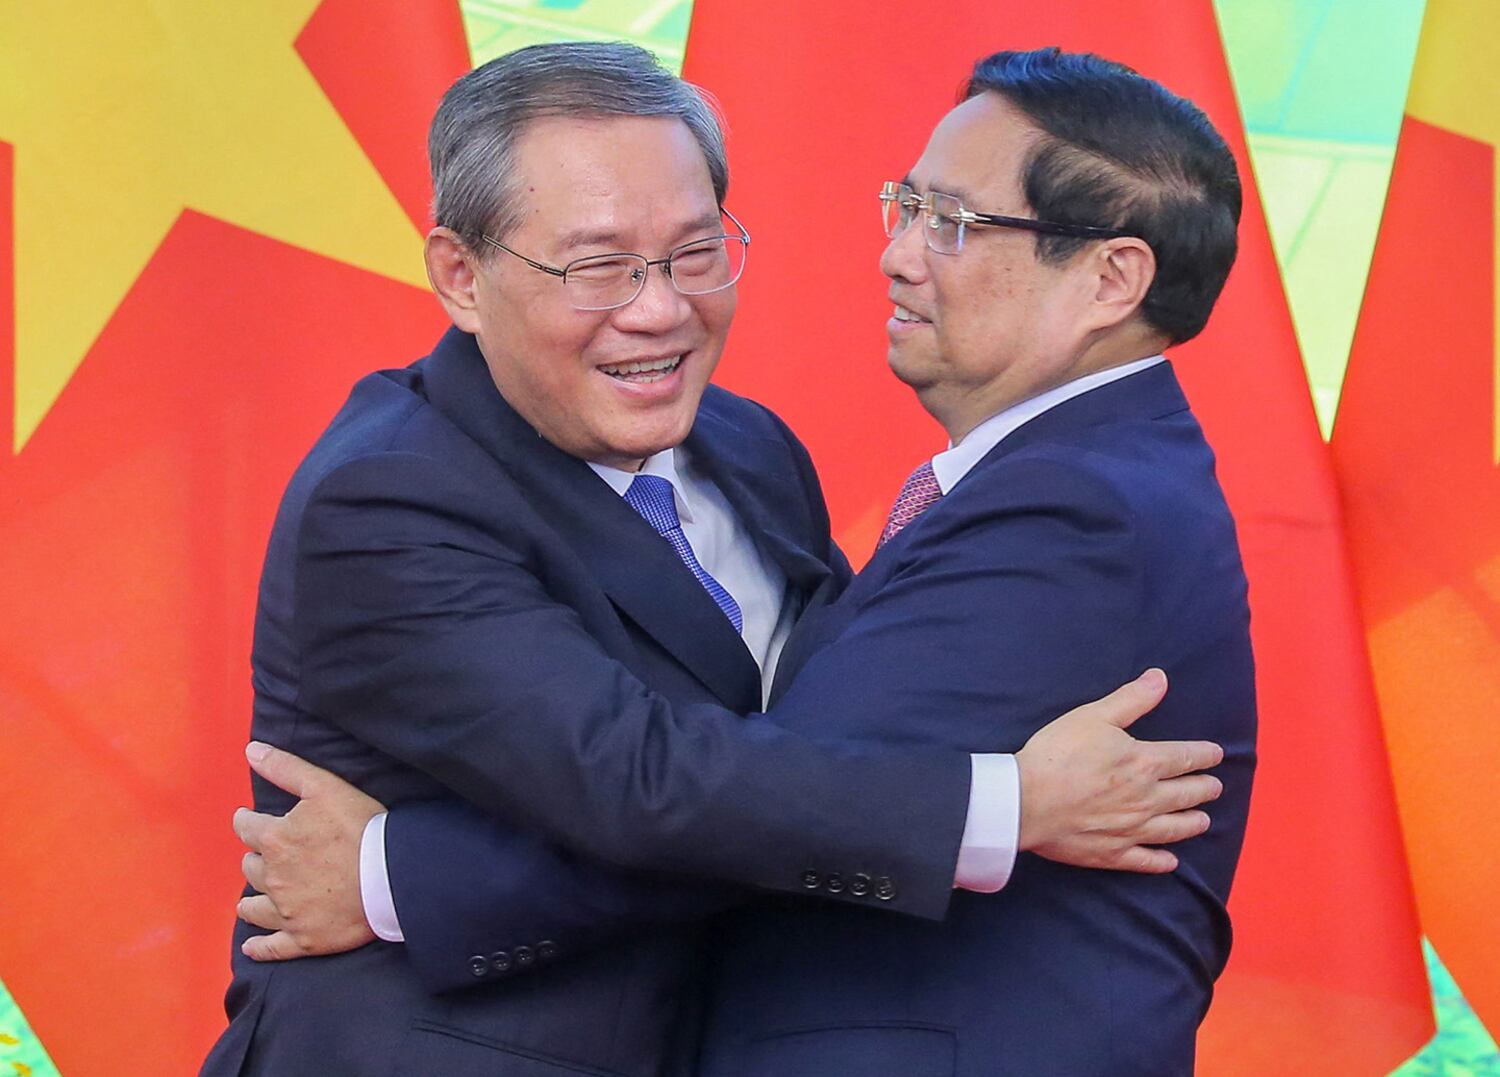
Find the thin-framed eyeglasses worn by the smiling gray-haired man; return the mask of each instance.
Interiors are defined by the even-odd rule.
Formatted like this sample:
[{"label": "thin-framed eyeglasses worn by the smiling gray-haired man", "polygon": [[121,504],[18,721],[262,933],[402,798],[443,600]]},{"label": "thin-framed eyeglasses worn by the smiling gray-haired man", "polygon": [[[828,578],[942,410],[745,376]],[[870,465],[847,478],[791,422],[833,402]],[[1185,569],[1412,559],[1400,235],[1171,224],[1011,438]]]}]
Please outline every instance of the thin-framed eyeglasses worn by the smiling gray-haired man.
[{"label": "thin-framed eyeglasses worn by the smiling gray-haired man", "polygon": [[734,285],[746,272],[750,232],[735,214],[718,212],[734,225],[735,232],[705,236],[666,252],[664,258],[646,258],[630,252],[574,258],[567,266],[548,266],[526,258],[490,236],[482,236],[489,246],[519,258],[526,266],[549,276],[561,278],[568,302],[578,310],[614,310],[628,306],[646,286],[646,273],[660,266],[662,273],[684,296],[708,296]]}]

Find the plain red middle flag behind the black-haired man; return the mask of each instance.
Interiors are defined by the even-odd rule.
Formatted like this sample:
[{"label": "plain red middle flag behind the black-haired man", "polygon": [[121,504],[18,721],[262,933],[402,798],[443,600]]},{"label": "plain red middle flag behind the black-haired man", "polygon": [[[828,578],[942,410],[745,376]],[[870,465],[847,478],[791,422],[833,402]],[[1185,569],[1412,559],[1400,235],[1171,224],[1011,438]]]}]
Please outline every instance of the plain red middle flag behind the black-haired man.
[{"label": "plain red middle flag behind the black-haired man", "polygon": [[1239,264],[1208,332],[1173,354],[1239,520],[1262,708],[1234,956],[1202,1071],[1386,1072],[1431,1035],[1431,1005],[1334,476],[1210,3],[698,0],[686,74],[723,102],[729,202],[754,236],[723,381],[807,440],[840,538],[866,556],[900,477],[944,446],[885,370],[874,195],[976,57],[1040,45],[1122,60],[1198,102],[1246,183]]}]

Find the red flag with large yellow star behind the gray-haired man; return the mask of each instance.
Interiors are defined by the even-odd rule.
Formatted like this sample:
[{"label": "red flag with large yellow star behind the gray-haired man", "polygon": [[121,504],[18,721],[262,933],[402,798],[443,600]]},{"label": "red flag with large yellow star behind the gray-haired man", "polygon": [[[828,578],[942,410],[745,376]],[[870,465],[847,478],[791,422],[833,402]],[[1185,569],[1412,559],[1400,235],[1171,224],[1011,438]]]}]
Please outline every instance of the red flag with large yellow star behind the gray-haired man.
[{"label": "red flag with large yellow star behind the gray-haired man", "polygon": [[[444,324],[414,286],[416,224],[428,118],[468,68],[458,9],[286,8],[100,8],[100,30],[39,4],[0,45],[27,92],[0,96],[0,130],[16,132],[0,146],[0,328],[15,327],[0,414],[24,442],[0,447],[0,978],[62,1072],[192,1072],[222,1028],[240,886],[228,819],[249,795],[272,513],[350,382],[423,354]],[[102,174],[45,172],[58,158],[27,110],[75,57],[28,68],[22,52],[54,32],[132,76],[69,75],[69,138],[120,147]],[[100,232],[104,260],[90,243],[44,256],[39,237],[120,189],[141,213]],[[392,212],[364,236],[326,226],[362,198]],[[159,234],[132,231],[153,213]],[[386,272],[376,232],[394,261],[410,243],[399,280],[348,264]],[[58,266],[76,291],[56,285]],[[34,344],[78,318],[75,294],[106,302],[68,360]]]}]

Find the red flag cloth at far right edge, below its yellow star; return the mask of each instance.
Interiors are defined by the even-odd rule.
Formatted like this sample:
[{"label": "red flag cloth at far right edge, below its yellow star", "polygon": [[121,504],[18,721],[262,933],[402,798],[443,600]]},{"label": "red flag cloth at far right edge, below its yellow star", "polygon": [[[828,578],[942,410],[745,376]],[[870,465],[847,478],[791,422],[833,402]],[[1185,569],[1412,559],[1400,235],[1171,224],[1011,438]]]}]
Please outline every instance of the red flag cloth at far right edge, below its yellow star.
[{"label": "red flag cloth at far right edge, below its yellow star", "polygon": [[1407,118],[1334,428],[1422,926],[1500,1029],[1494,147]]}]

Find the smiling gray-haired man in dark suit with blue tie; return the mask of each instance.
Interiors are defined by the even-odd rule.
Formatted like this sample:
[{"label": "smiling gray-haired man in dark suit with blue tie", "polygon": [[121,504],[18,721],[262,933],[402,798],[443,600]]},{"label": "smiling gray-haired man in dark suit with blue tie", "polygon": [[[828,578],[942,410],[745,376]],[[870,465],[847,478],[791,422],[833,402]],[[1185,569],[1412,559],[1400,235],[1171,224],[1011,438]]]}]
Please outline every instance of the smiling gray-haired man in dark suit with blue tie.
[{"label": "smiling gray-haired man in dark suit with blue tie", "polygon": [[[1184,808],[1214,778],[1155,778],[1215,756],[1126,747],[1098,718],[1064,718],[1035,750],[998,738],[972,754],[892,734],[879,708],[861,734],[864,687],[846,704],[825,694],[819,706],[843,718],[824,726],[795,692],[786,722],[735,714],[758,708],[792,622],[848,570],[801,447],[756,405],[705,394],[747,238],[722,210],[711,116],[632,56],[522,57],[446,99],[428,264],[456,330],[416,368],[362,382],[298,470],[256,626],[255,735],[369,804],[426,801],[376,816],[402,928],[488,933],[507,898],[516,912],[484,946],[444,936],[426,966],[414,948],[426,986],[459,970],[478,984],[462,996],[428,996],[390,945],[237,958],[231,1028],[207,1071],[663,1072],[682,1058],[674,1036],[696,1029],[698,928],[680,921],[742,898],[621,867],[936,920],[956,882],[1004,882],[1017,825],[1022,848],[1137,870],[1173,862],[1138,842],[1204,825]],[[538,87],[542,104],[518,114]],[[447,144],[474,124],[519,134]],[[446,184],[448,164],[484,153],[484,184]],[[638,249],[658,256],[614,254]],[[900,664],[870,672],[880,708],[909,717]],[[975,720],[974,700],[936,702],[933,722]],[[1011,708],[1032,730],[1046,717]],[[256,756],[261,770],[285,764]],[[1072,765],[1084,756],[1092,771]],[[1130,780],[1110,780],[1116,764]],[[1008,834],[987,822],[998,789]],[[276,813],[292,796],[258,783],[256,802]],[[276,896],[272,864],[290,846],[264,816],[240,830],[267,855],[248,858],[250,882]],[[402,868],[424,856],[444,870]],[[432,900],[402,897],[429,884]],[[242,912],[286,934],[291,906],[282,891]],[[238,939],[256,954],[252,934]],[[606,934],[622,938],[590,950]],[[324,950],[345,942],[364,938]],[[458,960],[436,957],[448,944]]]}]

